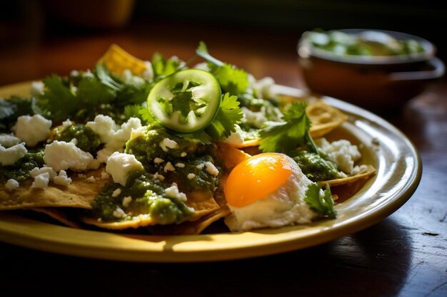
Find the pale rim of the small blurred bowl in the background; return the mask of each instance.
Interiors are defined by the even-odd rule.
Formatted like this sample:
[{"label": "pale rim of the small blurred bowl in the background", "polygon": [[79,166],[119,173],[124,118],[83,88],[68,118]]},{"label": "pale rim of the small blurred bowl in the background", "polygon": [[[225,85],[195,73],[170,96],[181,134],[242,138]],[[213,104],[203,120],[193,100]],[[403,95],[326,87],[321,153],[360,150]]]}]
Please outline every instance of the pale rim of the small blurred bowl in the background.
[{"label": "pale rim of the small blurred bowl in the background", "polygon": [[334,61],[339,63],[349,64],[361,64],[361,65],[391,65],[391,64],[406,64],[428,61],[436,55],[436,46],[425,38],[416,36],[410,33],[404,33],[400,31],[383,30],[376,28],[342,28],[333,29],[327,31],[321,31],[321,33],[328,33],[331,31],[341,31],[343,33],[360,33],[363,31],[378,31],[387,33],[390,36],[399,39],[414,39],[422,44],[424,51],[421,53],[411,53],[405,55],[396,56],[357,56],[357,55],[343,55],[338,56],[330,51],[323,50],[313,46],[306,38],[306,32],[301,34],[301,38],[298,41],[297,51],[300,58],[321,58],[327,61]]}]

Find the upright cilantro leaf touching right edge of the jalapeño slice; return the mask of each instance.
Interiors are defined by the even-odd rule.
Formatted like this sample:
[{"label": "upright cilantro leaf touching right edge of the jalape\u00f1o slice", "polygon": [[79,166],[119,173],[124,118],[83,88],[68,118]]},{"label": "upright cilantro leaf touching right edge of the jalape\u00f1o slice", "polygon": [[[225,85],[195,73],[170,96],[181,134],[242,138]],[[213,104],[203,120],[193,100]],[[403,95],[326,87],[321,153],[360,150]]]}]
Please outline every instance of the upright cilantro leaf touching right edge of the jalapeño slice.
[{"label": "upright cilantro leaf touching right edge of the jalape\u00f1o slice", "polygon": [[236,96],[231,96],[229,93],[222,95],[221,106],[216,118],[205,129],[214,140],[222,140],[228,137],[231,132],[236,131],[235,125],[241,123],[243,117],[239,104]]}]

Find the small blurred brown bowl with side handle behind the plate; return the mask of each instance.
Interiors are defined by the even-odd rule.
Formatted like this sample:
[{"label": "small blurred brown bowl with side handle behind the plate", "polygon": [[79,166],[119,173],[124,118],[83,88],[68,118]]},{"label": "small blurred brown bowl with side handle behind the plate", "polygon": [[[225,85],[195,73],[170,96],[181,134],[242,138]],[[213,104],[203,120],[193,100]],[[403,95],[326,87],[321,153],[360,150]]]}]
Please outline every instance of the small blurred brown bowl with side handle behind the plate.
[{"label": "small blurred brown bowl with side handle behind the plate", "polygon": [[424,51],[400,56],[337,56],[312,46],[303,35],[298,42],[298,63],[308,88],[368,109],[399,108],[444,74],[444,63],[436,57],[433,43],[407,33],[374,31],[399,40],[416,40]]}]

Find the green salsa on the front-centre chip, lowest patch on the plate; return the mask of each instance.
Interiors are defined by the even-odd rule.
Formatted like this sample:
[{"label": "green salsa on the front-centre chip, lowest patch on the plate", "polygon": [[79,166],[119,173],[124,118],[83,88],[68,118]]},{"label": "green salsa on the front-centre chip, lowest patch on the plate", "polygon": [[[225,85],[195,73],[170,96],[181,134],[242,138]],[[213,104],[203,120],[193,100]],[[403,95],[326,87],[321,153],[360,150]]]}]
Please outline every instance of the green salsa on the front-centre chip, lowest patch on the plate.
[{"label": "green salsa on the front-centre chip, lowest patch on the plate", "polygon": [[[140,215],[149,215],[158,224],[179,224],[191,217],[190,209],[181,199],[169,197],[165,189],[169,184],[154,179],[153,174],[132,172],[126,187],[120,184],[107,184],[92,203],[93,212],[104,222],[131,221]],[[114,192],[120,189],[119,194]],[[123,199],[131,197],[131,202],[123,206]],[[126,215],[116,217],[116,209],[124,209]]]}]

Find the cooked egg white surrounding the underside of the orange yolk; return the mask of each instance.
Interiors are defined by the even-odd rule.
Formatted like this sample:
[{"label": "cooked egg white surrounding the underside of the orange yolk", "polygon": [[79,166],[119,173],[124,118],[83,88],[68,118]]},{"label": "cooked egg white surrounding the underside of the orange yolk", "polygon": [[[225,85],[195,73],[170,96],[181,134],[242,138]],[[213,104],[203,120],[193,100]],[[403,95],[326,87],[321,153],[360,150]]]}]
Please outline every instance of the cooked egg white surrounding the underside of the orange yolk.
[{"label": "cooked egg white surrounding the underside of the orange yolk", "polygon": [[308,185],[312,184],[300,167],[290,159],[291,175],[275,192],[244,207],[232,207],[224,222],[231,231],[248,231],[265,227],[308,224],[316,217],[306,202]]}]

